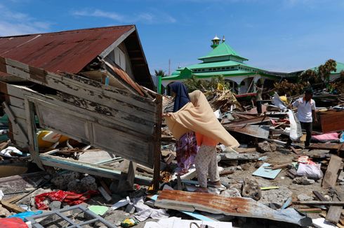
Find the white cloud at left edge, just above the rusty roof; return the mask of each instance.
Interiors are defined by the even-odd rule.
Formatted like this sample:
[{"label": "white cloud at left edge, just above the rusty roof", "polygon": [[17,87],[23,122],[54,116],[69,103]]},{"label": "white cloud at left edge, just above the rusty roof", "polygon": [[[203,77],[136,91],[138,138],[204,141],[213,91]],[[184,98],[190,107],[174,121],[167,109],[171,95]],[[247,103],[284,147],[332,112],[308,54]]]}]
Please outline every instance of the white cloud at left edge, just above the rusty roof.
[{"label": "white cloud at left edge, just above the rusty roof", "polygon": [[10,10],[1,4],[0,11],[0,36],[41,33],[51,26],[48,22],[40,22],[25,13]]}]

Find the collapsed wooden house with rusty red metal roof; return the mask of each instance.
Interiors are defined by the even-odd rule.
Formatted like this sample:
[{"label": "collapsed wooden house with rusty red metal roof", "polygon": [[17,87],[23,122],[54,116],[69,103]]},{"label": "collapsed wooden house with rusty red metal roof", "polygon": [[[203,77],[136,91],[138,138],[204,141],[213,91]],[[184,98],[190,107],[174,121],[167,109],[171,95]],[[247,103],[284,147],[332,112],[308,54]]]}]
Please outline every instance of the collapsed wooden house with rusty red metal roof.
[{"label": "collapsed wooden house with rusty red metal roof", "polygon": [[40,154],[38,125],[143,166],[159,161],[154,156],[160,152],[161,96],[152,92],[135,26],[1,37],[0,78],[11,141],[29,150],[41,169],[120,174],[106,162]]}]

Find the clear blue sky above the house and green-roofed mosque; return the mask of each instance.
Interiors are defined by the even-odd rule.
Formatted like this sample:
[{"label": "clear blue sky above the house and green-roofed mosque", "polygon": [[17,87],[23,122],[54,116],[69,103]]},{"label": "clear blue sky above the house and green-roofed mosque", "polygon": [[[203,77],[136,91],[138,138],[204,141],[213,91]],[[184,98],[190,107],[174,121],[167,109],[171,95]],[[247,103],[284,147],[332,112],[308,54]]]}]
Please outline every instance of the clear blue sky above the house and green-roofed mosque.
[{"label": "clear blue sky above the house and green-roofed mosque", "polygon": [[344,62],[343,0],[0,0],[0,36],[136,24],[150,71],[199,62],[216,34],[271,71]]}]

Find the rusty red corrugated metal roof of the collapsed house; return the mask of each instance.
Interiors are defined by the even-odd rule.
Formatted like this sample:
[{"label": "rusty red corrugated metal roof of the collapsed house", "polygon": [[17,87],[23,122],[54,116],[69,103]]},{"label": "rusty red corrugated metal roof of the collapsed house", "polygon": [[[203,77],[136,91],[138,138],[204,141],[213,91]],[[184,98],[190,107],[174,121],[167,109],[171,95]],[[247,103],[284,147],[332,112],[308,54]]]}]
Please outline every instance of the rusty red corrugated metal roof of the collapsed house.
[{"label": "rusty red corrugated metal roof of the collapsed house", "polygon": [[133,25],[0,37],[0,56],[46,71],[79,73]]}]

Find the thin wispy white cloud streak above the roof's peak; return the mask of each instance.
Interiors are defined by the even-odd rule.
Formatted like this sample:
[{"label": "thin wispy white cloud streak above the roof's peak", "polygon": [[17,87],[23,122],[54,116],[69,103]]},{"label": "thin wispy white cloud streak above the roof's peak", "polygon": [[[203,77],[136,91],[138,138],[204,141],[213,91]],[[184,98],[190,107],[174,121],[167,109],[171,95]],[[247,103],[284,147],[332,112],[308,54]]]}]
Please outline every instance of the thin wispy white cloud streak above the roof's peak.
[{"label": "thin wispy white cloud streak above the roof's peak", "polygon": [[121,23],[143,22],[145,24],[174,23],[177,20],[166,13],[138,13],[133,15],[121,15],[99,9],[83,9],[72,11],[72,15],[81,17],[103,17]]}]

